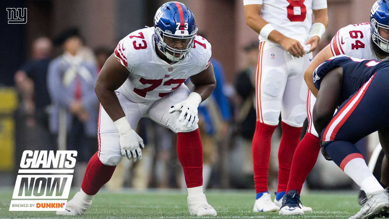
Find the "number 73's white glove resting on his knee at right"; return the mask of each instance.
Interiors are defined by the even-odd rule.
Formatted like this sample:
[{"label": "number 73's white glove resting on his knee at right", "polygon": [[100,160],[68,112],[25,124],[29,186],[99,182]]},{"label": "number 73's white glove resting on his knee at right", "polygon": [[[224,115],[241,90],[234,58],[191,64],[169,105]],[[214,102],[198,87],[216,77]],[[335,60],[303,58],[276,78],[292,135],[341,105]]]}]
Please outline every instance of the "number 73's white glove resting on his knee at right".
[{"label": "number 73's white glove resting on his knee at right", "polygon": [[182,126],[186,126],[187,128],[193,127],[198,123],[197,108],[201,100],[200,94],[191,92],[186,100],[174,104],[169,109],[169,113],[180,112],[181,114],[178,120],[184,120]]}]

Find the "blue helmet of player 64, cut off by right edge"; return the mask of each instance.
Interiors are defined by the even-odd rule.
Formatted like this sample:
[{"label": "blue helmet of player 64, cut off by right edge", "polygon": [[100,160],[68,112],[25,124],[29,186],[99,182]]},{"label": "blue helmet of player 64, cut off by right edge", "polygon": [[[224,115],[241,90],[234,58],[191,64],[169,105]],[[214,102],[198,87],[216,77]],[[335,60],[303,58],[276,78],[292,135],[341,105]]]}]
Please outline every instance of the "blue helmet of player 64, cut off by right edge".
[{"label": "blue helmet of player 64, cut off by right edge", "polygon": [[379,48],[389,53],[389,40],[381,37],[379,28],[389,30],[389,1],[378,0],[370,11],[371,39]]}]

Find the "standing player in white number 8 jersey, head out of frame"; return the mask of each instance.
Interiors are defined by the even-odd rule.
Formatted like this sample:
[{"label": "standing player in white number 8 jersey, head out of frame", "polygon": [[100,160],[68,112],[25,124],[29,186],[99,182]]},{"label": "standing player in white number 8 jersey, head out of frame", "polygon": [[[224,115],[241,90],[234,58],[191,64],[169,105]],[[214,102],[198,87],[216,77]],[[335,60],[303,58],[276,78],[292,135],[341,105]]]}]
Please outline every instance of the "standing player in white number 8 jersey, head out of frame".
[{"label": "standing player in white number 8 jersey, head out of frame", "polygon": [[[306,115],[303,72],[328,25],[326,0],[244,0],[246,23],[259,34],[256,72],[257,121],[252,141],[254,212],[278,211],[286,192],[293,153]],[[312,25],[312,13],[314,21]],[[282,138],[274,202],[268,191],[270,140],[279,124]],[[311,208],[303,208],[312,211]]]}]

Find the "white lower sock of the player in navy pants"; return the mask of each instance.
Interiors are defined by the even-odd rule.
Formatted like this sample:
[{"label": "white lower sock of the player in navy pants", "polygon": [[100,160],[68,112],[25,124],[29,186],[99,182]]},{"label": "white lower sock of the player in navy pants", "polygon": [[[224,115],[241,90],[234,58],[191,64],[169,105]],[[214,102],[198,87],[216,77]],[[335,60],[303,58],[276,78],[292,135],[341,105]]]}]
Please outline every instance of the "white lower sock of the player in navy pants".
[{"label": "white lower sock of the player in navy pants", "polygon": [[373,173],[367,167],[364,159],[354,158],[349,161],[343,170],[356,184],[358,184],[365,193],[375,192],[381,189],[382,186],[373,176]]}]

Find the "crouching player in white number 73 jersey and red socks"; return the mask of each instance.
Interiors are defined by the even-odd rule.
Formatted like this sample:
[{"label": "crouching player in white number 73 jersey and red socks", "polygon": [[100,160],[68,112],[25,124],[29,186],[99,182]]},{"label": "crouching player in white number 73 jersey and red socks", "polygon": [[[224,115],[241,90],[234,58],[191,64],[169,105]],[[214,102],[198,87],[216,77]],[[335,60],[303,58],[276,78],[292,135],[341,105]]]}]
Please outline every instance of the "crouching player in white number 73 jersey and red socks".
[{"label": "crouching player in white number 73 jersey and red socks", "polygon": [[[192,12],[180,2],[163,4],[154,27],[132,32],[117,45],[98,75],[98,151],[90,159],[81,190],[59,215],[82,215],[93,196],[127,157],[142,159],[143,140],[135,132],[141,117],[177,133],[190,215],[216,216],[203,194],[203,151],[197,107],[216,86],[211,45],[197,32]],[[184,85],[190,78],[192,92]],[[131,200],[129,200],[131,201]]]}]

